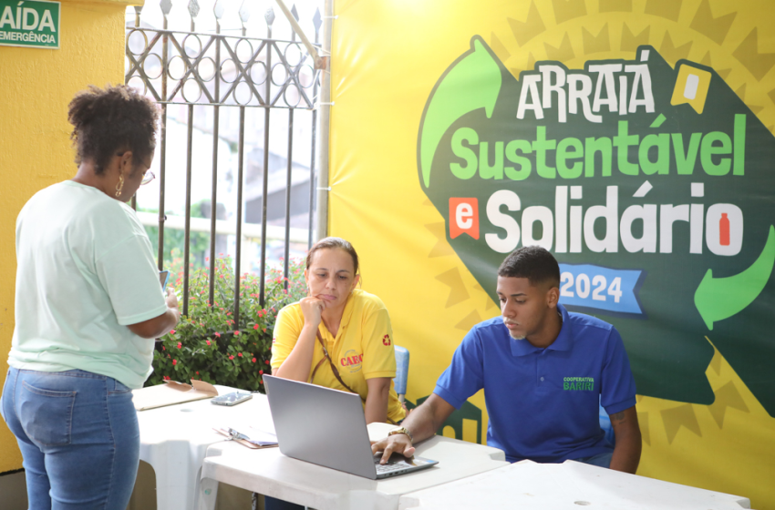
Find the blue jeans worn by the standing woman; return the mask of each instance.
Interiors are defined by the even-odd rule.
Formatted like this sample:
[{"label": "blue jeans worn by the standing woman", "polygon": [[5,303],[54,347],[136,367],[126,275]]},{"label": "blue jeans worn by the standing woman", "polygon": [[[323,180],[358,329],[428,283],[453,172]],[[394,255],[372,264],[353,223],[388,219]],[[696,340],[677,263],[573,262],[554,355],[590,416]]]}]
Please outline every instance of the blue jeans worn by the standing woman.
[{"label": "blue jeans worn by the standing woman", "polygon": [[125,510],[140,463],[131,390],[105,375],[11,368],[0,413],[33,510]]}]

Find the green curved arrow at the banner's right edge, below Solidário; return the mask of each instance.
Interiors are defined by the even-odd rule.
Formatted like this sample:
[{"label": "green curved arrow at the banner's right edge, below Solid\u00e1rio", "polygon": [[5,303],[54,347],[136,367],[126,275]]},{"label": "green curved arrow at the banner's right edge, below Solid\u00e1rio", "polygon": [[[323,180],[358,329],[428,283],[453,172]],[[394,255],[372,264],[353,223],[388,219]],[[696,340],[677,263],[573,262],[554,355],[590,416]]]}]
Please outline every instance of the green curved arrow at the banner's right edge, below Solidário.
[{"label": "green curved arrow at the banner's right edge, below Solid\u00e1rio", "polygon": [[713,330],[713,322],[723,321],[745,310],[764,290],[773,265],[775,227],[770,225],[764,250],[749,269],[728,278],[713,278],[713,270],[708,270],[694,293],[694,305],[708,330]]}]

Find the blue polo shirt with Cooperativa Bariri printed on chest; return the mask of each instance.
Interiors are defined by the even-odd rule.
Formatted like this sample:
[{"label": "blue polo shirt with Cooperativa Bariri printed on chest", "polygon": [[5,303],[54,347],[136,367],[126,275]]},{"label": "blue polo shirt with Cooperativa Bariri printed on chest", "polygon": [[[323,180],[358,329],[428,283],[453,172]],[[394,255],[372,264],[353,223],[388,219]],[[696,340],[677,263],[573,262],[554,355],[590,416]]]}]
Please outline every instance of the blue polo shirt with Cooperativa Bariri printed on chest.
[{"label": "blue polo shirt with Cooperativa Bariri printed on chest", "polygon": [[469,331],[433,393],[460,409],[484,388],[487,444],[509,462],[562,463],[611,451],[598,420],[635,405],[635,379],[614,326],[582,313],[563,314],[545,349],[514,340],[501,317]]}]

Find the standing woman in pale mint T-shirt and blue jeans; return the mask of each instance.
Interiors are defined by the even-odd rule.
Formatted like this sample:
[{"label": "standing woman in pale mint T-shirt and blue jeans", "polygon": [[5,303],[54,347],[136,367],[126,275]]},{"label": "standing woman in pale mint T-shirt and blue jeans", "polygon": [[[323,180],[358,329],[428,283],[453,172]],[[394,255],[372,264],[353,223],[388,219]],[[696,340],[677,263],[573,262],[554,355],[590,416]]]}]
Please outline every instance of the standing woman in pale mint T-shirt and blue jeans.
[{"label": "standing woman in pale mint T-shirt and blue jeans", "polygon": [[153,339],[180,320],[150,240],[126,205],[150,181],[157,108],[129,87],[70,102],[78,172],[16,219],[15,330],[0,412],[16,436],[29,507],[124,510],[140,462],[131,389]]}]

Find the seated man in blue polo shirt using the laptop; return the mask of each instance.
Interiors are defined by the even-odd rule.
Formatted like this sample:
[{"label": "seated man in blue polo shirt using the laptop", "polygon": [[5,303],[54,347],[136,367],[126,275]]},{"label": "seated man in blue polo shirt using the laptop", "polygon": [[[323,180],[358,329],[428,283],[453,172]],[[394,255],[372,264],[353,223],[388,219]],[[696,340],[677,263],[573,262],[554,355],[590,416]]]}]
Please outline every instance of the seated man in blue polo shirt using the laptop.
[{"label": "seated man in blue polo shirt using the laptop", "polygon": [[[547,250],[529,246],[503,260],[501,317],[474,326],[428,400],[373,445],[383,463],[393,452],[414,454],[413,441],[436,433],[484,388],[487,444],[508,461],[571,459],[635,473],[641,435],[622,338],[607,322],[565,310],[559,285],[560,267]],[[613,448],[600,429],[598,403],[611,416]]]}]

